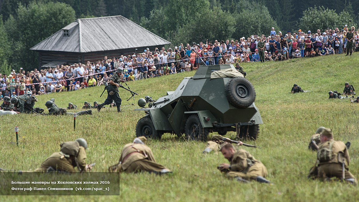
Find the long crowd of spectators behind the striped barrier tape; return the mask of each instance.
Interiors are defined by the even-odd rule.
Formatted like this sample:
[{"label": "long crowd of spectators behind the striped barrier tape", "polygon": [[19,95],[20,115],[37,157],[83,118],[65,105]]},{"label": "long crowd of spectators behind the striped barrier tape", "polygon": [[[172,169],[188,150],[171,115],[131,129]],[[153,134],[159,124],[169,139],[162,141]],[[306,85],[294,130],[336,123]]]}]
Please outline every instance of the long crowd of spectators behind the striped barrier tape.
[{"label": "long crowd of spectators behind the striped barrier tape", "polygon": [[[359,34],[355,27],[354,51],[359,51]],[[25,72],[11,70],[10,75],[1,74],[0,98],[19,95],[42,95],[61,91],[76,91],[103,85],[111,77],[113,70],[123,68],[122,78],[135,81],[196,70],[200,65],[234,64],[260,61],[258,42],[265,42],[265,60],[281,61],[294,58],[342,54],[346,52],[348,26],[343,29],[326,29],[287,33],[276,32],[272,27],[265,36],[252,35],[247,39],[183,43],[172,48],[148,48],[141,53],[120,55],[86,64],[57,65],[55,68],[34,69]]]}]

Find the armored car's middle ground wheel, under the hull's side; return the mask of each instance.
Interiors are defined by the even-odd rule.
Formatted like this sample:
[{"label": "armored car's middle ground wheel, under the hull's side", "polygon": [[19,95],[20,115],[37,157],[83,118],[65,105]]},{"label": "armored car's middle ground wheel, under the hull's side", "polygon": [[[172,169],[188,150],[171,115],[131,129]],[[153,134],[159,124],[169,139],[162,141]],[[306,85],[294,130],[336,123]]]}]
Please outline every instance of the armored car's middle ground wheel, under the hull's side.
[{"label": "armored car's middle ground wheel, under the hull's side", "polygon": [[203,128],[197,115],[188,117],[185,125],[185,136],[190,140],[206,141],[209,130]]}]

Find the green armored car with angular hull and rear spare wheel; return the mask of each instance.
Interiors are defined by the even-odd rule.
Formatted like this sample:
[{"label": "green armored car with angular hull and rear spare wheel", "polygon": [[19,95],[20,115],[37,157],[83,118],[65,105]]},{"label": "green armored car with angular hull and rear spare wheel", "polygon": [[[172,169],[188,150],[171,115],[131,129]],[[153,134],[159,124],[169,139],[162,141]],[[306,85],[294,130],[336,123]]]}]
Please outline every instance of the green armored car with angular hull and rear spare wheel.
[{"label": "green armored car with angular hull and rear spare wheel", "polygon": [[254,104],[252,84],[233,65],[200,66],[193,77],[186,77],[175,91],[144,108],[146,115],[136,125],[136,136],[161,138],[164,133],[205,141],[210,132],[257,139],[262,118]]}]

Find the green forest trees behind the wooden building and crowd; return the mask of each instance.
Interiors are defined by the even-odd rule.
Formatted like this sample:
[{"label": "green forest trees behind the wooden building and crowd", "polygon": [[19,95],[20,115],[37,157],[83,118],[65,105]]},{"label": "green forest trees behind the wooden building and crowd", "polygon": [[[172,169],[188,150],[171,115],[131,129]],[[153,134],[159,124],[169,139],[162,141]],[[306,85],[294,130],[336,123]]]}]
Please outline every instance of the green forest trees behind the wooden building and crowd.
[{"label": "green forest trees behind the wooden building and crowd", "polygon": [[29,48],[76,18],[122,15],[172,42],[356,26],[359,0],[0,0],[0,72],[38,65]]}]

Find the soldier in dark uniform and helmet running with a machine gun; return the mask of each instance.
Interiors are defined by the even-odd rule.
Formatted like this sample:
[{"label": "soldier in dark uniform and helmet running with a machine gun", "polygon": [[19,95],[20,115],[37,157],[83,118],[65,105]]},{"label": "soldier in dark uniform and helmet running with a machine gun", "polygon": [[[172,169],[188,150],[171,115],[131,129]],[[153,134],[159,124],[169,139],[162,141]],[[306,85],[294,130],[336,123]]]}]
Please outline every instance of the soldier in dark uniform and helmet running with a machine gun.
[{"label": "soldier in dark uniform and helmet running with a machine gun", "polygon": [[111,78],[109,79],[109,85],[106,87],[107,90],[107,98],[106,100],[102,103],[97,105],[97,110],[100,111],[101,108],[104,105],[109,105],[111,104],[112,101],[115,101],[116,103],[116,107],[117,107],[117,112],[121,112],[121,98],[118,95],[118,88],[120,86],[120,82],[125,82],[125,80],[121,80],[121,74],[123,73],[123,69],[122,68],[117,68],[116,72],[112,74]]}]

